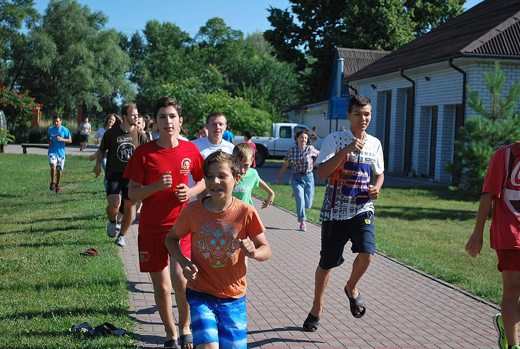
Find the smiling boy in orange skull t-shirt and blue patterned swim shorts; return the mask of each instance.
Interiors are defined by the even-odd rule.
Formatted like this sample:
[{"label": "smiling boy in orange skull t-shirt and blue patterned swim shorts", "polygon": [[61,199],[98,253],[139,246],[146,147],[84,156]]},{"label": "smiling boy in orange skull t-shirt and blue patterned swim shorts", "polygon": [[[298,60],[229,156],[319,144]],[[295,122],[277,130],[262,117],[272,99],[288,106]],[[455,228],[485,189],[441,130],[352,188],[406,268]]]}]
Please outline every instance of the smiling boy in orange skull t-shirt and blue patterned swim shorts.
[{"label": "smiling boy in orange skull t-shirt and blue patterned swim shorts", "polygon": [[[198,349],[245,349],[245,257],[265,261],[271,248],[254,207],[231,195],[240,181],[237,159],[216,151],[204,160],[203,169],[210,196],[186,205],[166,247],[188,279],[193,344]],[[191,261],[179,245],[190,235]]]}]

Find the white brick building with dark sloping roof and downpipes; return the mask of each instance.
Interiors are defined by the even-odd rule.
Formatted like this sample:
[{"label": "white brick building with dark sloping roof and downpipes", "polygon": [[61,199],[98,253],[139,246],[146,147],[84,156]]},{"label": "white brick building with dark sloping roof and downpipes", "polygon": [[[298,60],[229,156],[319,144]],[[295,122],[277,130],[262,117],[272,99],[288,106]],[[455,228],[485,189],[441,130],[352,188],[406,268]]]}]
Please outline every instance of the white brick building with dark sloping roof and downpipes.
[{"label": "white brick building with dark sloping roof and downpipes", "polygon": [[372,100],[368,132],[381,140],[386,171],[452,183],[457,128],[475,112],[464,85],[489,105],[484,73],[499,61],[520,78],[520,2],[487,0],[347,77]]}]

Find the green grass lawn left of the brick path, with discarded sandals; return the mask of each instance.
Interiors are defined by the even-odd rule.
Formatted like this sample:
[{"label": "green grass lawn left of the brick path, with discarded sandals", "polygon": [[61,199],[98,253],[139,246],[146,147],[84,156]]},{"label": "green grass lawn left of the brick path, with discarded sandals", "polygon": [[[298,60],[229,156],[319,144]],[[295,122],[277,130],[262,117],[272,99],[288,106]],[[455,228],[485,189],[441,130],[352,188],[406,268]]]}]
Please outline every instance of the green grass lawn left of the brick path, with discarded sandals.
[{"label": "green grass lawn left of the brick path, with discarded sandals", "polygon": [[[46,156],[0,154],[0,348],[130,348],[133,339],[84,339],[75,324],[133,331],[126,277],[106,236],[106,199],[92,163],[68,156],[62,194]],[[95,248],[99,257],[80,256]]]}]

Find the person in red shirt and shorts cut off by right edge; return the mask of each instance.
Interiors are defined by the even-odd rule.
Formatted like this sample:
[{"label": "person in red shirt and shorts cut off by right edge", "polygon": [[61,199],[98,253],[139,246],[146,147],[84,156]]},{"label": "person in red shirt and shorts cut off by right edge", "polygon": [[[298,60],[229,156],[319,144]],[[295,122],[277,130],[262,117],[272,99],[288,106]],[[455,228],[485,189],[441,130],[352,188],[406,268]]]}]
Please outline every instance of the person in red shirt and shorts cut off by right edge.
[{"label": "person in red shirt and shorts cut off by right edge", "polygon": [[[489,163],[477,221],[466,251],[475,257],[483,245],[484,224],[493,203],[489,240],[502,273],[502,312],[493,317],[501,349],[520,349],[520,142],[498,149]],[[509,344],[509,345],[508,345]]]}]

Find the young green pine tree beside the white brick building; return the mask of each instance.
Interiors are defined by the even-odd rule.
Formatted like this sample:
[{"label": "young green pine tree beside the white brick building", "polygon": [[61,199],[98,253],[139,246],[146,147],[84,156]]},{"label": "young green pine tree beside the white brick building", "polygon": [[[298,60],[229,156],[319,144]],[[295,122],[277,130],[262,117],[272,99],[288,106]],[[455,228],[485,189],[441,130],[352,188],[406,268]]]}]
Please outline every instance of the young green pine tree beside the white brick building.
[{"label": "young green pine tree beside the white brick building", "polygon": [[499,62],[495,62],[492,72],[484,74],[484,79],[491,95],[490,106],[487,108],[478,92],[473,91],[470,85],[466,86],[467,104],[478,115],[467,118],[460,128],[455,149],[461,161],[446,167],[453,176],[462,173],[460,188],[475,197],[480,195],[493,153],[520,139],[520,115],[515,110],[516,101],[520,100],[520,79],[511,83],[504,99],[501,99],[501,94],[506,77]]}]

